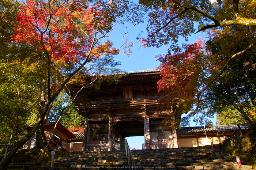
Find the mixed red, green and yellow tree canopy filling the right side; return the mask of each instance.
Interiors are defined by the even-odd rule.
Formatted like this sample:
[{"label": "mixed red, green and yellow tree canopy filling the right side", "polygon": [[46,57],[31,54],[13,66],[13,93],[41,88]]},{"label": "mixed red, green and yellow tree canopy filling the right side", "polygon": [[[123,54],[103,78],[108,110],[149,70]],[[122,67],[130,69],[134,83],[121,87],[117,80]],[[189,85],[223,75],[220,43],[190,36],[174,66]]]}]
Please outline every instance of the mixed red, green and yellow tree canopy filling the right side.
[{"label": "mixed red, green and yellow tree canopy filling the right side", "polygon": [[[251,125],[245,109],[255,105],[255,1],[141,0],[140,3],[151,9],[144,45],[170,44],[166,55],[157,56],[163,76],[158,88],[166,94],[159,110],[172,110],[166,123],[178,126],[181,114],[189,111],[183,119],[196,117],[198,113],[202,119],[211,117],[221,111],[218,107],[221,105],[233,106]],[[197,32],[206,35],[206,40],[184,44],[181,49],[178,37],[188,40],[196,32],[195,25],[199,26]],[[203,123],[202,119],[195,120]]]}]

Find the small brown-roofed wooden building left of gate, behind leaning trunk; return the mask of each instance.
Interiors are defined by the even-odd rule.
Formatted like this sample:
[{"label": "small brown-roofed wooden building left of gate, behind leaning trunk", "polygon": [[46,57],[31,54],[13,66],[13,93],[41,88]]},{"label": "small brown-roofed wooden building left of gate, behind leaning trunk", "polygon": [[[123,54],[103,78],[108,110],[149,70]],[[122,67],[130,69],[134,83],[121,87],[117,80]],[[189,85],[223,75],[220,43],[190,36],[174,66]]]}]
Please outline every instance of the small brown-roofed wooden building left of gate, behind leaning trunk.
[{"label": "small brown-roofed wooden building left of gate, behind leaning trunk", "polygon": [[[50,140],[50,137],[53,135],[53,129],[56,122],[49,122],[46,123],[44,126],[44,133],[46,136],[47,141]],[[30,131],[30,129],[33,127],[33,125],[30,125],[26,128],[27,131]],[[67,128],[65,128],[63,125],[61,125],[59,122],[55,129],[55,135],[53,139],[50,141],[49,147],[54,150],[54,148],[61,147],[61,151],[69,151],[66,149],[67,147],[67,141],[68,139],[75,138],[76,136],[70,132]],[[35,134],[27,141],[26,144],[23,145],[23,149],[31,149],[35,147]]]}]

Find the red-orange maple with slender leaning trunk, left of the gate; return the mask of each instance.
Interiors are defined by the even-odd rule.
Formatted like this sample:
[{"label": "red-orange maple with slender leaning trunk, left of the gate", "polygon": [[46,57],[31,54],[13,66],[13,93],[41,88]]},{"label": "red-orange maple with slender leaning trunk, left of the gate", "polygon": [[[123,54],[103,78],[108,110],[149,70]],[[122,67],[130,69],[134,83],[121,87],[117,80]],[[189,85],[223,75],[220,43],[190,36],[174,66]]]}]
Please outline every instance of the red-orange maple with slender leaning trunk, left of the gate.
[{"label": "red-orange maple with slender leaning trunk, left of the gate", "polygon": [[[120,2],[119,2],[120,3]],[[118,63],[112,55],[119,50],[107,37],[117,17],[124,16],[117,3],[83,0],[27,0],[19,7],[12,43],[33,48],[38,56],[31,60],[44,68],[45,74],[38,117],[33,128],[20,139],[0,164],[8,163],[16,151],[46,122],[54,99],[66,84],[91,74],[115,71]],[[37,84],[37,86],[39,86]],[[43,134],[42,134],[43,135]]]}]

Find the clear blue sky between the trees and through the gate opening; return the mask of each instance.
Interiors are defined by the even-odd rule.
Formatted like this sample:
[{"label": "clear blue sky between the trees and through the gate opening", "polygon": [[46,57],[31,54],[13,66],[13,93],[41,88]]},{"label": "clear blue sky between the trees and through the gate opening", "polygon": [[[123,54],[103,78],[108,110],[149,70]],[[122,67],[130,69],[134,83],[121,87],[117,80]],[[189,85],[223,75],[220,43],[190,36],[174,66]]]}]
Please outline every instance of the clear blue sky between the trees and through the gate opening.
[{"label": "clear blue sky between the trees and through the gate opening", "polygon": [[[116,29],[112,31],[112,35],[109,39],[114,43],[116,48],[120,48],[124,44],[124,38],[127,38],[123,35],[123,32],[128,32],[128,41],[137,42],[136,37],[138,34],[142,34],[142,37],[146,38],[146,26],[147,23],[141,23],[136,26],[132,24],[125,24],[116,26]],[[123,29],[127,27],[127,29]],[[143,33],[141,33],[143,31]],[[203,37],[203,34],[197,33],[189,37],[189,41],[186,42],[182,37],[178,39],[178,44],[181,46],[182,43],[192,44],[198,37]],[[134,46],[139,46],[140,44],[135,44]],[[147,47],[147,48],[131,48],[132,54],[127,57],[123,52],[114,56],[116,61],[120,61],[120,68],[123,71],[140,71],[147,69],[155,69],[159,66],[159,61],[156,61],[155,56],[159,54],[166,54],[169,46],[161,46],[160,48],[156,47]],[[216,118],[212,118],[211,121],[216,122]],[[190,126],[199,126],[195,122],[191,121]],[[128,144],[130,148],[142,148],[142,143],[144,143],[144,136],[141,137],[127,137]]]}]

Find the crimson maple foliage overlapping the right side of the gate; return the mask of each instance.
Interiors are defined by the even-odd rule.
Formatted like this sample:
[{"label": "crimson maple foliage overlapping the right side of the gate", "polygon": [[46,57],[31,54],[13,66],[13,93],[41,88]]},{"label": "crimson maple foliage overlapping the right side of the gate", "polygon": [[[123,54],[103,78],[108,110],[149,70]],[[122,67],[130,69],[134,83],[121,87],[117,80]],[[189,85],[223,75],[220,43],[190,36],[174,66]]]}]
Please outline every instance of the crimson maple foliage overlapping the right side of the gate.
[{"label": "crimson maple foliage overlapping the right side of the gate", "polygon": [[173,55],[159,55],[161,62],[158,81],[158,91],[165,97],[159,102],[159,111],[171,110],[166,118],[166,125],[178,127],[182,113],[187,113],[195,103],[195,94],[202,87],[203,74],[207,73],[204,40],[200,39],[192,45],[184,45],[184,51],[179,49]]}]

